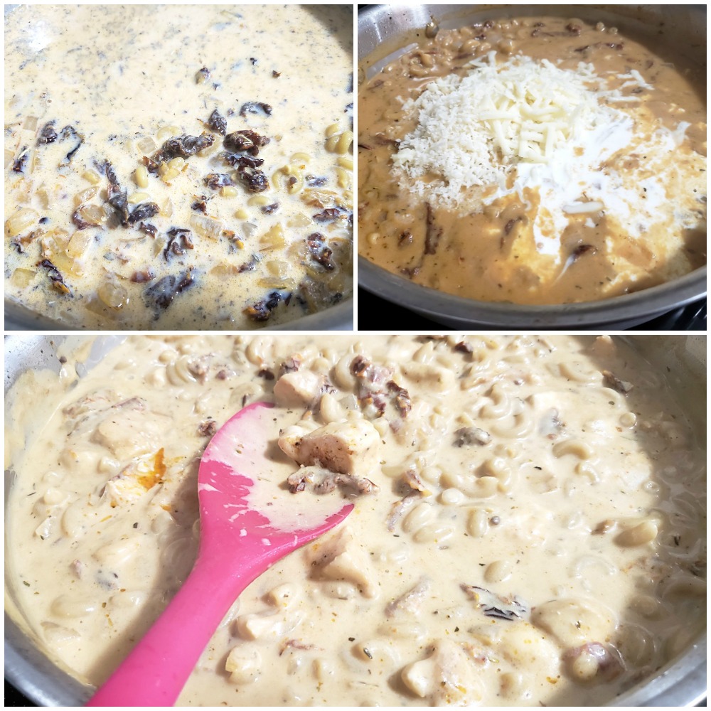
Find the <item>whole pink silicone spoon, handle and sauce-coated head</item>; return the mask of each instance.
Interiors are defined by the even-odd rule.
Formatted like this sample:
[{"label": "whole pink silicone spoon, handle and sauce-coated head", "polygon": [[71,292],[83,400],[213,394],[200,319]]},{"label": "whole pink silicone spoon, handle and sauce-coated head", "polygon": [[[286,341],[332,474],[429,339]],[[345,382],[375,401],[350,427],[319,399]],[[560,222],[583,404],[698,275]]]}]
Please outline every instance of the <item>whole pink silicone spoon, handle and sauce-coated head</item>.
[{"label": "whole pink silicone spoon, handle and sauce-coated head", "polygon": [[[255,402],[215,434],[198,472],[201,540],[195,567],[148,633],[90,699],[89,706],[170,706],[230,605],[252,580],[287,553],[338,525],[353,504],[298,528],[250,505],[257,477],[269,471],[272,405]],[[257,499],[257,501],[259,501]],[[294,506],[301,502],[295,501]],[[260,508],[262,510],[260,510]]]}]

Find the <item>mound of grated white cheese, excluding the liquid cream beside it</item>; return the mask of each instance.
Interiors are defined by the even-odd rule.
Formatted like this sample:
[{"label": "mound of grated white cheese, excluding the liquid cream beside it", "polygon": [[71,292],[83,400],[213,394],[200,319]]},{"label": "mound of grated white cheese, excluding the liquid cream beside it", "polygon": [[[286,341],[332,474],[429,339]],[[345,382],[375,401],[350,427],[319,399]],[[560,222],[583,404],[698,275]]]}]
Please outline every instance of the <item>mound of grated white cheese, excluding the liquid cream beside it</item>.
[{"label": "mound of grated white cheese, excluding the liquid cream beside it", "polygon": [[434,80],[403,107],[419,118],[395,168],[440,178],[416,191],[456,203],[463,188],[503,186],[513,166],[570,164],[581,152],[599,164],[629,142],[630,117],[604,101],[638,97],[609,90],[592,65],[564,70],[525,56],[497,63],[492,52],[469,66],[468,75]]}]

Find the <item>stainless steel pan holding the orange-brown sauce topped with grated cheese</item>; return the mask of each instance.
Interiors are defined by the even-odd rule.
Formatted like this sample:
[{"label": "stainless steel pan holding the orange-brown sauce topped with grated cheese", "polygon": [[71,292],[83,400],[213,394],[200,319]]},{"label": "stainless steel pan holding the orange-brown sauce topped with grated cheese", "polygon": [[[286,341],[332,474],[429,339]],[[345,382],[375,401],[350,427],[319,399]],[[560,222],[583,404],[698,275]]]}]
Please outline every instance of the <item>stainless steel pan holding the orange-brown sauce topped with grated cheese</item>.
[{"label": "stainless steel pan holding the orange-brown sauce topped with grated cheese", "polygon": [[[664,23],[665,41],[687,48],[706,63],[705,5],[375,5],[358,13],[359,77],[370,77],[414,41],[414,32],[436,21],[442,28],[463,26],[475,18],[564,15],[611,21],[620,28],[656,34]],[[474,301],[444,294],[390,274],[358,257],[358,284],[382,299],[417,311],[454,328],[629,328],[706,295],[707,269],[635,294],[562,306],[523,306]],[[368,325],[361,319],[361,325]]]}]

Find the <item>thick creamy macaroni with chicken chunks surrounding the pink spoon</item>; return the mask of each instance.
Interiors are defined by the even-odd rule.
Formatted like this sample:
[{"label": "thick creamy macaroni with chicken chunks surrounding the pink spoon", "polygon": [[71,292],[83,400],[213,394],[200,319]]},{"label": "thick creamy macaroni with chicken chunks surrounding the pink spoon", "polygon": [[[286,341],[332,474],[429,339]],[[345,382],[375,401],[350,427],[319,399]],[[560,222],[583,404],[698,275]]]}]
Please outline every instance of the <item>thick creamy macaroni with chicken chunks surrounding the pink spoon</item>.
[{"label": "thick creamy macaroni with chicken chunks surrounding the pink spoon", "polygon": [[181,705],[600,705],[702,629],[705,452],[624,343],[134,336],[85,377],[63,360],[8,398],[6,586],[87,684],[185,579],[201,453],[260,400],[262,485],[355,510],[247,588]]}]

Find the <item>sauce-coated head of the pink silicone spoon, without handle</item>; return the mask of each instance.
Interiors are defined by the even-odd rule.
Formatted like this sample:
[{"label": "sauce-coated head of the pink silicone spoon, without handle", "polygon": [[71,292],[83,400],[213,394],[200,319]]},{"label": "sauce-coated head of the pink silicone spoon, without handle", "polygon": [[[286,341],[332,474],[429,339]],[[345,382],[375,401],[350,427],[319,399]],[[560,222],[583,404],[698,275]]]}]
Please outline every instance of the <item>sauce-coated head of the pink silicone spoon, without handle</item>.
[{"label": "sauce-coated head of the pink silicone spoon, without handle", "polygon": [[353,504],[289,493],[269,476],[267,451],[275,432],[273,405],[255,402],[226,422],[203,453],[198,473],[201,551],[258,540],[267,549],[298,547],[340,523]]}]

